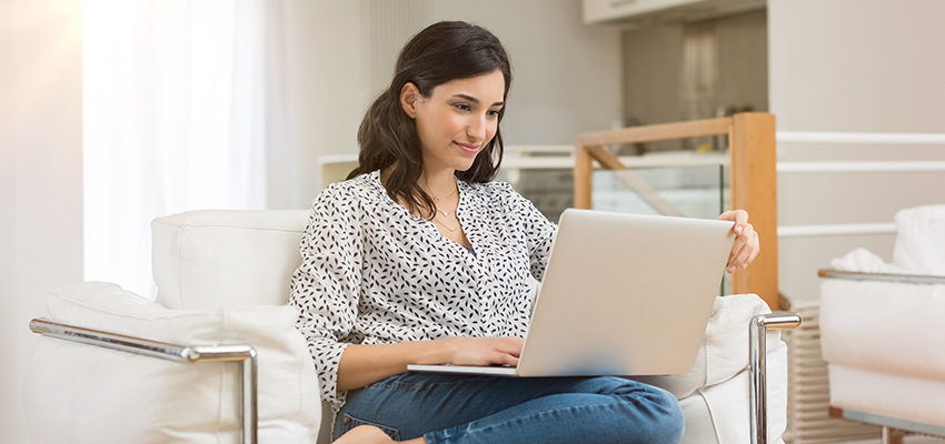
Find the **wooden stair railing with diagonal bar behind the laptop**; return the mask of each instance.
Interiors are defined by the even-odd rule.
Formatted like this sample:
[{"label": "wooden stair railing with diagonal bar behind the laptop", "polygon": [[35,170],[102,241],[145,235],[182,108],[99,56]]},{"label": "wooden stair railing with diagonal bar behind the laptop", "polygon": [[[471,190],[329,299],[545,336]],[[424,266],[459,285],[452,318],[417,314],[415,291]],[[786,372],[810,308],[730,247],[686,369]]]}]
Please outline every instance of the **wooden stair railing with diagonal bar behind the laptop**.
[{"label": "wooden stair railing with diagonal bar behind the laptop", "polygon": [[[733,293],[757,293],[777,310],[777,175],[775,173],[775,117],[762,112],[730,118],[663,123],[578,134],[575,138],[575,206],[590,208],[594,161],[606,170],[627,170],[605,145],[654,142],[728,134],[729,188],[733,209],[744,209],[760,239],[762,251],[746,270],[732,279]],[[663,214],[678,215],[651,188],[633,175],[620,180]],[[685,273],[685,270],[680,270]]]}]

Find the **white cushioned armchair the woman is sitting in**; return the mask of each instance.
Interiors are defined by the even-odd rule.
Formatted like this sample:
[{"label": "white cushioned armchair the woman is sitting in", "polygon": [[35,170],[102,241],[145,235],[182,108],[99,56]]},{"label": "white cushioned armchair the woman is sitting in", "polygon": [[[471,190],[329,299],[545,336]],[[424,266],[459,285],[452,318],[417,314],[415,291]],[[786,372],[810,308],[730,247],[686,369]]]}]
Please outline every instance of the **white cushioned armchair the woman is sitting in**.
[{"label": "white cushioned armchair the woman is sitting in", "polygon": [[[241,436],[251,441],[247,423],[255,423],[263,443],[326,443],[330,412],[318,402],[314,365],[286,305],[307,220],[308,211],[195,211],[159,218],[151,225],[156,302],[100,282],[53,291],[47,320],[33,323],[34,331],[52,337],[39,341],[26,381],[26,411],[37,438],[229,443]],[[768,312],[756,295],[717,299],[693,371],[644,379],[679,398],[686,414],[684,443],[749,443],[756,430],[762,433],[757,442],[782,442],[786,349],[777,331],[759,336],[766,339],[766,353],[756,356],[767,361],[767,373],[756,380],[766,389],[767,404],[752,401],[749,324],[767,319],[758,315]],[[122,350],[136,346],[136,337],[180,345],[158,349],[176,351],[185,357],[173,359],[182,362],[200,353],[216,356],[215,345],[249,344],[258,363],[258,402],[253,406],[249,395],[240,398],[248,392],[240,392],[239,382],[250,386],[245,379],[248,359],[240,361],[242,367],[231,362],[186,364],[61,341],[93,337],[106,337],[105,345],[113,347],[131,343]],[[752,422],[753,405],[766,413],[765,421]]]}]

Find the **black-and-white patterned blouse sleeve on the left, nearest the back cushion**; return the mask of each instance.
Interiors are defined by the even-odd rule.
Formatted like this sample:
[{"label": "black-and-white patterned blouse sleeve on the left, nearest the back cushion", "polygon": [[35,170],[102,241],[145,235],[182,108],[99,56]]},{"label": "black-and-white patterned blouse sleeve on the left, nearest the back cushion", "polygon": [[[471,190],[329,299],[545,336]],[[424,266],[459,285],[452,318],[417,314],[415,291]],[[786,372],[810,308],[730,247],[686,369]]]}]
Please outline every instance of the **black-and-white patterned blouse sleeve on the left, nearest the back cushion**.
[{"label": "black-and-white patterned blouse sleeve on the left, nearest the back cushion", "polygon": [[357,316],[361,281],[361,229],[358,212],[332,188],[316,199],[292,274],[289,305],[299,311],[296,327],[315,360],[321,398],[338,411],[338,364]]}]

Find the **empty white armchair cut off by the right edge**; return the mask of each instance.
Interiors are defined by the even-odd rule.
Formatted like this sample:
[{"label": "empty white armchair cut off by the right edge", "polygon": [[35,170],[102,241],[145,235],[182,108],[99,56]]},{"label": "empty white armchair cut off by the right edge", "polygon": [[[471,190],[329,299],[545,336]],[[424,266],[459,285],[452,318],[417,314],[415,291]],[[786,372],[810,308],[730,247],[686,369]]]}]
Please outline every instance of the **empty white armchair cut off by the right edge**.
[{"label": "empty white armchair cut off by the right edge", "polygon": [[855,250],[822,270],[833,414],[945,436],[945,205],[896,214],[893,263]]}]

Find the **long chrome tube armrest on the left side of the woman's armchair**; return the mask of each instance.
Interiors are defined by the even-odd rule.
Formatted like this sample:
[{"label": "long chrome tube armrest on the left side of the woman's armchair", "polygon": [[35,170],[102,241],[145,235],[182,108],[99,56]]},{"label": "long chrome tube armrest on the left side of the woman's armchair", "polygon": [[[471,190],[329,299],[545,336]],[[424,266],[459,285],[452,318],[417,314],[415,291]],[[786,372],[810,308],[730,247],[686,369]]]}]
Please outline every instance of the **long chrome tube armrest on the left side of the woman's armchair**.
[{"label": "long chrome tube armrest on the left side of the woman's armchair", "polygon": [[245,344],[179,345],[44,319],[30,321],[30,330],[50,337],[181,363],[236,362],[240,364],[240,441],[257,443],[257,363],[256,350],[252,346]]}]

